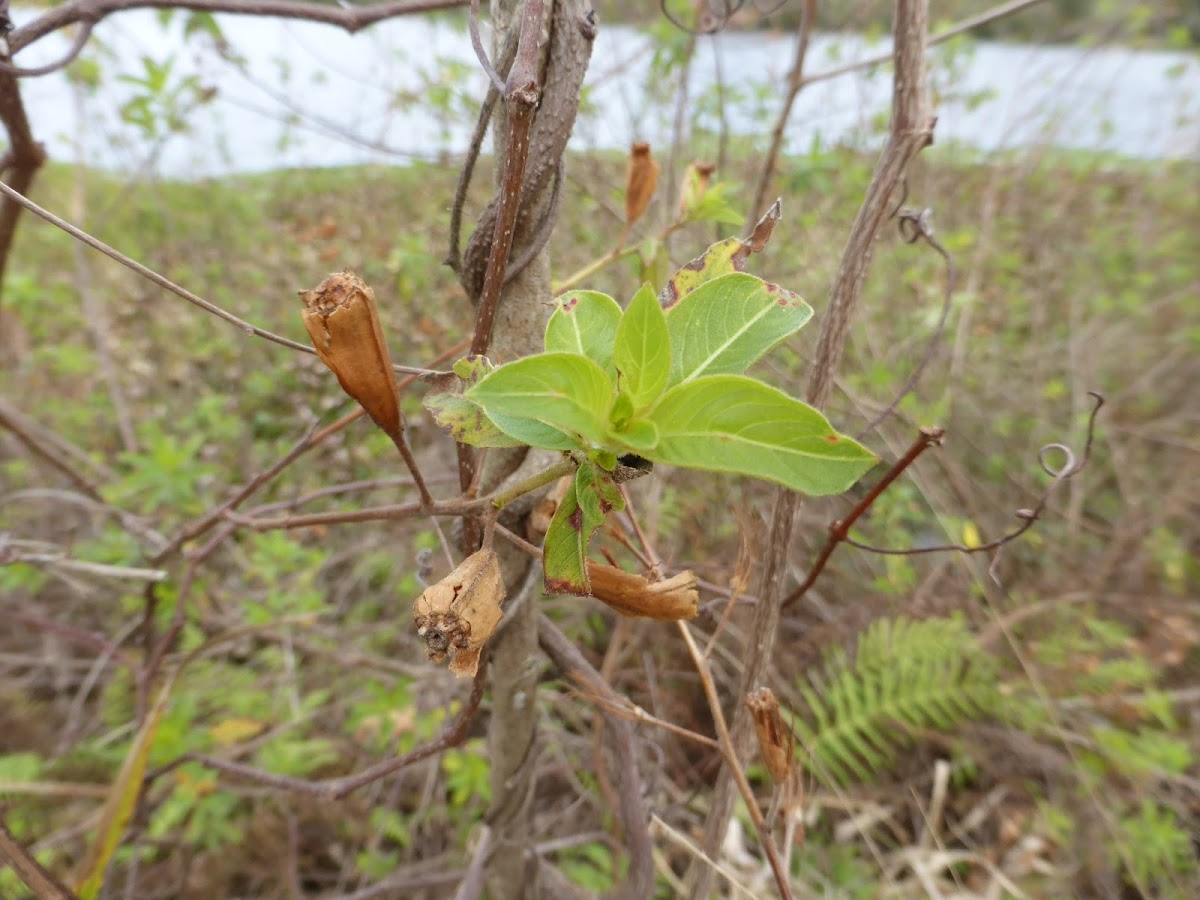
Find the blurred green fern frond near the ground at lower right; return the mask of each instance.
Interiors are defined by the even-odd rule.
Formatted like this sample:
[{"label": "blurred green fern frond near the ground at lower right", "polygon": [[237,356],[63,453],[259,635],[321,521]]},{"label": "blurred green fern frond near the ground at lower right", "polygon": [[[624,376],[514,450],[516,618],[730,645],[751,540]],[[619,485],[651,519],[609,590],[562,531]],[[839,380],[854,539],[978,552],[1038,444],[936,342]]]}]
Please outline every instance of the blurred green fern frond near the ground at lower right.
[{"label": "blurred green fern frond near the ground at lower right", "polygon": [[878,619],[851,659],[838,649],[798,683],[805,767],[826,784],[870,781],[919,728],[950,731],[996,703],[994,660],[961,617]]}]

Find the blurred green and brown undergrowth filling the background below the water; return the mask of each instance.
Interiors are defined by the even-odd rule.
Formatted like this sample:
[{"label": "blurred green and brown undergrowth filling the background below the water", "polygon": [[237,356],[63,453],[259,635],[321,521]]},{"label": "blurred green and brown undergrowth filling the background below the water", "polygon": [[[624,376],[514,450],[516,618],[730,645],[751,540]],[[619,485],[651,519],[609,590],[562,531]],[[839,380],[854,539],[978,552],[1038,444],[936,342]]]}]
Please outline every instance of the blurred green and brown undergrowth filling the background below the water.
[{"label": "blurred green and brown undergrowth filling the background below the water", "polygon": [[[1193,12],[1177,5],[1172,22]],[[1078,22],[1097,34],[1092,19]],[[718,178],[733,206],[750,194],[762,144],[727,146]],[[701,133],[680,152],[715,156],[716,136]],[[814,149],[781,166],[785,215],[755,271],[808,298],[818,316],[872,162]],[[619,155],[570,161],[551,244],[557,274],[612,250],[624,164]],[[949,438],[882,496],[858,536],[919,547],[1008,530],[1046,486],[1038,448],[1062,442],[1081,452],[1087,391],[1108,404],[1087,468],[995,562],[844,547],[785,616],[774,688],[797,715],[805,772],[791,851],[800,888],[864,898],[938,888],[1200,894],[1198,174],[1194,161],[1052,150],[978,158],[952,146],[919,158],[910,202],[934,210],[958,289],[940,353],[866,440],[894,458],[918,425],[942,425]],[[469,337],[473,318],[440,265],[456,175],[452,164],[418,163],[174,182],[56,163],[32,197],[54,209],[73,198],[74,217],[107,242],[300,341],[295,290],[353,269],[380,298],[397,361],[425,365]],[[476,180],[475,208],[486,181]],[[668,193],[664,181],[643,232],[673,217]],[[671,238],[672,258],[683,263],[736,232],[690,226]],[[641,274],[635,259],[587,287],[629,296]],[[829,409],[844,431],[884,407],[922,358],[944,277],[928,248],[895,234],[881,242]],[[0,316],[0,562],[14,539],[25,551],[44,542],[49,558],[0,565],[0,809],[44,865],[68,872],[131,756],[146,702],[132,673],[146,636],[176,614],[179,584],[150,588],[54,557],[145,566],[160,536],[352,406],[313,358],[248,340],[31,217]],[[815,336],[802,332],[760,374],[798,384]],[[445,487],[454,446],[419,394],[404,395],[412,440]],[[47,434],[82,481],[47,458]],[[862,490],[805,504],[797,581]],[[408,493],[386,438],[358,422],[254,503],[344,510]],[[727,599],[754,589],[769,497],[749,480],[671,470],[634,490],[664,560],[695,569],[708,587],[696,629],[724,635],[713,668],[727,696],[749,622],[744,605],[725,622]],[[637,565],[614,538],[605,547]],[[425,661],[409,604],[446,565],[427,523],[236,530],[197,572],[182,612],[179,652],[205,649],[172,692],[151,772],[204,751],[329,776],[433,737],[461,694]],[[546,610],[619,694],[712,733],[696,672],[665,625],[618,619],[590,600],[551,599]],[[222,635],[235,637],[206,647]],[[619,883],[623,860],[593,703],[548,667],[535,702],[546,743],[535,761],[539,853],[575,884],[604,890]],[[136,810],[106,895],[451,895],[491,790],[484,722],[474,728],[458,749],[342,800],[174,768]],[[671,896],[689,854],[666,829],[702,827],[720,758],[649,725],[638,737],[648,805],[664,829],[659,889]],[[751,775],[769,796],[766,770]],[[744,810],[739,821],[752,833]],[[751,890],[769,890],[757,845],[740,834],[727,842],[728,868]],[[0,896],[23,892],[12,871],[0,872]]]}]

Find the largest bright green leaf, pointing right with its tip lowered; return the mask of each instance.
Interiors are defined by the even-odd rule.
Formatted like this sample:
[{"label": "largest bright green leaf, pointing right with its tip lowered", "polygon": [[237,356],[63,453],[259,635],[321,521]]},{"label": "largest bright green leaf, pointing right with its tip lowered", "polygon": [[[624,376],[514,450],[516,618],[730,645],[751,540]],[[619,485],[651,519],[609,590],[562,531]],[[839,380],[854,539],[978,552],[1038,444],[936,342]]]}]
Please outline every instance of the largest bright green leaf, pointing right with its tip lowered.
[{"label": "largest bright green leaf, pointing right with its tip lowered", "polygon": [[742,376],[672,388],[647,418],[659,443],[642,455],[654,462],[751,475],[808,494],[841,493],[876,462],[808,403]]}]

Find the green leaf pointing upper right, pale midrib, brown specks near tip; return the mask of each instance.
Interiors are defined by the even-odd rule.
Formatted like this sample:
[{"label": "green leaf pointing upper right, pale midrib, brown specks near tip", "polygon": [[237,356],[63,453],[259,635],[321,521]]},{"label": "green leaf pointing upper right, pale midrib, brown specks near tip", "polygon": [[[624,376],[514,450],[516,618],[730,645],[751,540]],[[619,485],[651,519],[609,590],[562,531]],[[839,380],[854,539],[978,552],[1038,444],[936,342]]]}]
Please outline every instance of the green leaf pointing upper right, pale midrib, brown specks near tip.
[{"label": "green leaf pointing upper right, pale midrib, brown specks near tip", "polygon": [[667,311],[670,384],[740,374],[811,316],[799,296],[752,275],[706,282]]}]

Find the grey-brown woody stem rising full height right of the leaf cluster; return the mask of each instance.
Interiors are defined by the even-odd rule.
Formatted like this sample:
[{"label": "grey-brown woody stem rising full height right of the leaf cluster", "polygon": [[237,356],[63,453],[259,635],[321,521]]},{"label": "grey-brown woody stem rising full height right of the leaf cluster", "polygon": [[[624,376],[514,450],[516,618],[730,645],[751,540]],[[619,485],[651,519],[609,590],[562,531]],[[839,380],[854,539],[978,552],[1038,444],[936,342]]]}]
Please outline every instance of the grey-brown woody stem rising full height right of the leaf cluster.
[{"label": "grey-brown woody stem rising full height right of the leaf cluster", "polygon": [[[895,202],[893,198],[904,181],[908,163],[922,148],[932,142],[934,137],[935,120],[930,115],[925,77],[929,0],[896,0],[893,31],[895,77],[892,89],[892,128],[842,251],[841,265],[829,292],[829,305],[821,323],[816,359],[806,391],[808,401],[817,408],[823,407],[829,400],[829,390],[841,362],[854,308],[863,292],[863,281],[870,268],[875,241],[883,222],[892,212]],[[742,670],[734,701],[732,737],[734,751],[742,760],[750,752],[754,737],[754,725],[743,700],[751,690],[762,686],[767,665],[774,654],[780,606],[784,600],[787,553],[798,499],[798,496],[790,491],[780,491],[775,497],[767,559],[758,590],[760,600],[755,608],[749,644],[742,654],[746,664]],[[713,792],[713,803],[704,827],[703,848],[709,858],[715,859],[720,853],[733,811],[734,796],[733,780],[722,769]],[[688,874],[689,896],[710,896],[713,877],[713,869],[707,862],[695,862]]]}]

